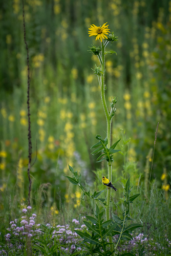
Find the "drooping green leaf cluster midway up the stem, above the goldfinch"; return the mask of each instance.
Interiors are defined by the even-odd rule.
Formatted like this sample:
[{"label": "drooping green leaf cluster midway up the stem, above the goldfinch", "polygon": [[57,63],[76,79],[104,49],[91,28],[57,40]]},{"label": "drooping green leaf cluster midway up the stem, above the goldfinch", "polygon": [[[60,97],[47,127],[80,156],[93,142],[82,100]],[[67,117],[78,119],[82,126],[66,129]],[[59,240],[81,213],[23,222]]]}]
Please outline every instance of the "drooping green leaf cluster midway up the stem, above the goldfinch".
[{"label": "drooping green leaf cluster midway up the stem, above the goldfinch", "polygon": [[[115,150],[115,147],[120,140],[116,141],[110,148],[108,148],[108,146],[107,146],[108,139],[107,138],[105,138],[103,140],[101,135],[96,135],[96,139],[99,140],[99,142],[97,142],[96,144],[94,144],[91,147],[91,149],[97,147],[96,150],[94,150],[91,154],[94,156],[94,155],[101,153],[101,155],[97,158],[97,162],[106,160],[111,164],[111,162],[114,161],[113,154],[120,151],[120,150]],[[103,157],[103,158],[100,159],[101,157]]]}]

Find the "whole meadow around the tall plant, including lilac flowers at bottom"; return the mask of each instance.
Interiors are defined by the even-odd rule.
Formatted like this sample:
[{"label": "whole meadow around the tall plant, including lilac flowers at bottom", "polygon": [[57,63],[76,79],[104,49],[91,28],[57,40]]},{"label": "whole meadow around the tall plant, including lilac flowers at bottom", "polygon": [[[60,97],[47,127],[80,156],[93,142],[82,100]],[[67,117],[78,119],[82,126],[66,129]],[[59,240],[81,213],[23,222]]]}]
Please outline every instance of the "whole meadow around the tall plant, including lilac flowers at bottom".
[{"label": "whole meadow around the tall plant, including lilac flowers at bottom", "polygon": [[[90,69],[97,62],[87,53],[91,44],[87,31],[92,23],[102,25],[106,17],[119,39],[109,46],[118,55],[108,56],[105,61],[106,101],[109,105],[111,96],[119,98],[112,141],[121,138],[118,144],[121,151],[113,164],[113,182],[118,191],[112,194],[110,218],[112,212],[122,217],[123,185],[131,177],[132,193],[141,195],[130,213],[143,225],[133,233],[132,241],[120,241],[117,252],[141,255],[144,246],[146,255],[171,254],[168,173],[171,2],[156,3],[154,11],[150,1],[127,5],[113,0],[107,7],[103,1],[25,4],[31,71],[32,159],[36,159],[30,171],[32,210],[28,209],[26,214],[23,209],[28,207],[29,187],[27,65],[22,8],[17,1],[11,6],[3,4],[0,255],[70,255],[82,250],[74,229],[81,228],[85,215],[94,216],[96,204],[89,198],[83,200],[81,191],[63,175],[70,175],[70,164],[81,173],[82,182],[92,193],[103,189],[101,177],[106,175],[107,165],[96,163],[90,148],[96,142],[96,134],[102,132],[106,136],[105,118],[98,82]],[[97,11],[97,17],[92,10]],[[13,22],[15,27],[11,26]],[[104,198],[106,194],[105,189]],[[29,220],[33,213],[36,217],[31,220],[35,224]],[[28,221],[25,224],[20,223],[24,215]],[[11,227],[13,224],[16,226]],[[21,228],[23,225],[25,230]],[[71,238],[67,237],[67,231]],[[59,236],[54,236],[55,233]]]}]

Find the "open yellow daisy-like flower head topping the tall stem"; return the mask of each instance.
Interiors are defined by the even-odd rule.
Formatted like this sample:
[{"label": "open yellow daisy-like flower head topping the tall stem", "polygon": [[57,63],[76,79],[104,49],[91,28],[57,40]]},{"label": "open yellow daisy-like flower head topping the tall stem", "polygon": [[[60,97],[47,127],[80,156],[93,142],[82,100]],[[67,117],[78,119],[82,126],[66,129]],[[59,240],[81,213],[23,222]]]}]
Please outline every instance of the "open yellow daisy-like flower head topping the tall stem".
[{"label": "open yellow daisy-like flower head topping the tall stem", "polygon": [[108,28],[109,25],[106,25],[106,23],[104,23],[102,27],[97,27],[94,24],[91,25],[89,28],[89,34],[90,34],[89,36],[95,35],[96,40],[100,39],[101,42],[102,42],[102,39],[105,39],[105,38],[108,39],[106,35],[109,34],[110,29]]}]

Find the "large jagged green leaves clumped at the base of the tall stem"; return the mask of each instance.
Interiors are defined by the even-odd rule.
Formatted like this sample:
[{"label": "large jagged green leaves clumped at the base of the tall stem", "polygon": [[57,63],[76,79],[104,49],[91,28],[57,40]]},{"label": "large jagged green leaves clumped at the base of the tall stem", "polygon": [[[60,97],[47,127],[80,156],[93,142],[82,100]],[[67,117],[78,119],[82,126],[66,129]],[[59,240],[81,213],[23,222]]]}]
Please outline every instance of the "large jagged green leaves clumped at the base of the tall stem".
[{"label": "large jagged green leaves clumped at the base of the tall stem", "polygon": [[[133,201],[140,195],[133,195],[130,196],[131,188],[130,188],[130,178],[127,179],[125,187],[125,200],[124,200],[124,211],[123,211],[123,217],[122,219],[119,218],[116,215],[112,215],[112,220],[104,221],[103,211],[100,211],[98,206],[96,205],[96,212],[95,212],[95,218],[92,216],[86,216],[87,219],[91,222],[91,224],[87,221],[83,221],[84,224],[87,226],[88,231],[78,231],[75,230],[79,236],[83,239],[82,244],[84,247],[84,250],[82,253],[86,253],[86,255],[93,255],[95,253],[98,253],[98,255],[112,255],[114,251],[116,251],[118,244],[120,240],[124,241],[130,241],[133,239],[132,232],[142,227],[141,224],[128,224],[127,222],[133,221],[133,219],[130,218],[130,204],[133,203]],[[109,249],[109,246],[111,243],[107,242],[106,239],[114,236],[118,236],[118,239],[116,241],[115,247],[111,250]],[[88,244],[89,243],[89,244]],[[103,250],[103,252],[101,252]],[[80,253],[80,255],[82,255]],[[74,255],[74,254],[73,254]],[[123,255],[135,255],[135,254],[123,254]],[[143,249],[139,252],[139,255],[143,255]]]}]

